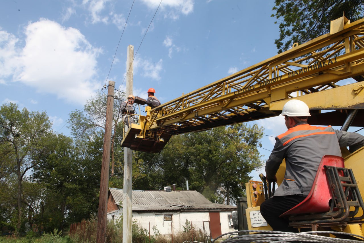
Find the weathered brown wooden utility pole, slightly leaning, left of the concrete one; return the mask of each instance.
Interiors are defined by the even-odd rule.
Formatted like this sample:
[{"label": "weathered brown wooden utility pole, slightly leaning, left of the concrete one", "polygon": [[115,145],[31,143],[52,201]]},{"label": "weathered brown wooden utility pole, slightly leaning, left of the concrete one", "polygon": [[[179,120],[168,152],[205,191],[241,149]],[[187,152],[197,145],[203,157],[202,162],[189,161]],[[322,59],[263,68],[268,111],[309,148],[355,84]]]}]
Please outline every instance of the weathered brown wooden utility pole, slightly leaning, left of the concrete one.
[{"label": "weathered brown wooden utility pole, slightly leaning, left of the concrete one", "polygon": [[109,169],[110,169],[110,146],[111,146],[111,128],[112,128],[112,110],[114,106],[114,89],[115,82],[109,81],[107,92],[106,124],[104,135],[104,148],[101,165],[100,197],[99,197],[99,214],[97,220],[96,242],[104,243],[106,241],[106,223],[107,223],[107,193],[109,187]]}]

